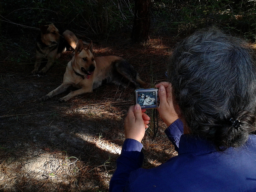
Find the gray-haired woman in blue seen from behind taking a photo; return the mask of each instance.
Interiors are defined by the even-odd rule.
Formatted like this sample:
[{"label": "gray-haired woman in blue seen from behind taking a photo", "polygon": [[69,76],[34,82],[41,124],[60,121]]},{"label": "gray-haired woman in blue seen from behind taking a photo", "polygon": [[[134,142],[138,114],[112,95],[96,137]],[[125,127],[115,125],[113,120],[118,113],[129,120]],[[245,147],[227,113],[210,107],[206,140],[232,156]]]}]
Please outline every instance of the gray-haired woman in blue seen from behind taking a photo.
[{"label": "gray-haired woman in blue seen from behind taking a photo", "polygon": [[180,42],[159,88],[162,120],[178,156],[141,168],[150,118],[131,106],[110,191],[256,191],[256,69],[245,43],[220,30]]}]

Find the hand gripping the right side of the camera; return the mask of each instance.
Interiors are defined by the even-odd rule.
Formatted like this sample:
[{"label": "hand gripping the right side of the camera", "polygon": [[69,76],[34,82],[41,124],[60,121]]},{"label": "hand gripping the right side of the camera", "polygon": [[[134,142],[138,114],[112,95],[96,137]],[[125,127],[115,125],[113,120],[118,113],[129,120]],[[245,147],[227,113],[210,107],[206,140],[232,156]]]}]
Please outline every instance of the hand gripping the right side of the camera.
[{"label": "hand gripping the right side of the camera", "polygon": [[169,82],[160,82],[156,87],[159,88],[158,96],[160,99],[158,112],[164,123],[169,126],[179,118],[179,108],[178,105],[174,103],[172,96],[172,84]]}]

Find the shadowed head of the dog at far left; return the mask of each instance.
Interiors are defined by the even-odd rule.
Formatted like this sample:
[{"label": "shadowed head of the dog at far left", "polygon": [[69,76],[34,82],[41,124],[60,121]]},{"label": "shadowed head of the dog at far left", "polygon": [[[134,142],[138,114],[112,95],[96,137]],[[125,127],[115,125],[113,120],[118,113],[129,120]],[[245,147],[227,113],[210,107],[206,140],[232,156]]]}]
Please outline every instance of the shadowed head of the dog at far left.
[{"label": "shadowed head of the dog at far left", "polygon": [[59,30],[54,24],[40,26],[41,41],[47,46],[55,46],[60,39]]}]

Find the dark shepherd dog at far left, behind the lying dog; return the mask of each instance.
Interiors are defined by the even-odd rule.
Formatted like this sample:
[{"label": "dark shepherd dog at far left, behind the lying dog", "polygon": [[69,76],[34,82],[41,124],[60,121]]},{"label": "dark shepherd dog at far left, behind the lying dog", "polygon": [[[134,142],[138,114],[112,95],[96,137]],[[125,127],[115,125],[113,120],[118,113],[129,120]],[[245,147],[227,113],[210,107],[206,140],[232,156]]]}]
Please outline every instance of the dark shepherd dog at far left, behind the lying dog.
[{"label": "dark shepherd dog at far left, behind the lying dog", "polygon": [[[56,60],[56,58],[60,58],[61,54],[66,51],[66,46],[68,46],[68,43],[65,41],[66,38],[69,42],[73,42],[71,46],[74,49],[76,48],[74,43],[77,44],[78,42],[74,33],[69,30],[66,30],[63,33],[63,35],[66,35],[63,38],[53,23],[40,26],[40,30],[41,33],[36,38],[36,61],[34,70],[31,72],[33,75],[45,74],[54,63],[54,60]],[[46,66],[39,71],[43,59],[47,59],[48,61]]]}]

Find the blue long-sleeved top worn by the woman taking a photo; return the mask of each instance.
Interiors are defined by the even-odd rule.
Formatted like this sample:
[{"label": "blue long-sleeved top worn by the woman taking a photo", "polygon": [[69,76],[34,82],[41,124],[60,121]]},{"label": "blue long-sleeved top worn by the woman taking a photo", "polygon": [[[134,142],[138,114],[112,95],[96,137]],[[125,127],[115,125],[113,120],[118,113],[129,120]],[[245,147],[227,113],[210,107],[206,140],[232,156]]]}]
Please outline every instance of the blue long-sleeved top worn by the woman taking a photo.
[{"label": "blue long-sleeved top worn by the woman taking a photo", "polygon": [[143,169],[142,144],[126,139],[110,192],[256,192],[256,135],[250,135],[240,148],[219,152],[207,140],[182,134],[180,119],[165,133],[178,156]]}]

